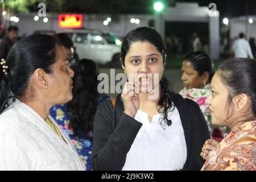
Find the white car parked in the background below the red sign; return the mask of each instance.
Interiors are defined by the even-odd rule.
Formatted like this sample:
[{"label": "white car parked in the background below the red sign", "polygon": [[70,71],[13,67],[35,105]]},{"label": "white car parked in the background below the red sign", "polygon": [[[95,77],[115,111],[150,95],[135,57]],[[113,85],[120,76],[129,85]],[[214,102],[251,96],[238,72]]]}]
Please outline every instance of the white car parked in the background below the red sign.
[{"label": "white car parked in the background below the red sign", "polygon": [[[65,31],[64,31],[65,32]],[[120,63],[121,41],[112,34],[102,34],[94,30],[75,30],[66,32],[71,35],[79,59],[92,59],[96,63],[117,65]]]}]

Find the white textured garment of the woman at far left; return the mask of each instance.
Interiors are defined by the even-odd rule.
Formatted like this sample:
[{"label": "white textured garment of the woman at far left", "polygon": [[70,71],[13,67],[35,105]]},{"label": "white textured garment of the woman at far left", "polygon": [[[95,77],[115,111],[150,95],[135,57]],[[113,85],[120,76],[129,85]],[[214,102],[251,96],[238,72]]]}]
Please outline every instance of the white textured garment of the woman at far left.
[{"label": "white textured garment of the woman at far left", "polygon": [[58,129],[67,143],[16,99],[0,115],[0,170],[84,170],[72,142]]}]

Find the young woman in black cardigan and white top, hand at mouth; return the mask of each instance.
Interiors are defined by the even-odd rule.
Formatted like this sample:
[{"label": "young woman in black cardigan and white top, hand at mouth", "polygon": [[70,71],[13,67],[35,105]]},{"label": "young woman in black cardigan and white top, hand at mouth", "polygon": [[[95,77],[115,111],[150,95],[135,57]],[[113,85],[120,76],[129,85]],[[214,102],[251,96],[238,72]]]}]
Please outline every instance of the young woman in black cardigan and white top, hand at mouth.
[{"label": "young woman in black cardigan and white top, hand at mouth", "polygon": [[115,104],[103,102],[94,121],[94,170],[200,169],[209,130],[200,107],[168,88],[166,47],[148,27],[126,35],[121,48],[128,78]]}]

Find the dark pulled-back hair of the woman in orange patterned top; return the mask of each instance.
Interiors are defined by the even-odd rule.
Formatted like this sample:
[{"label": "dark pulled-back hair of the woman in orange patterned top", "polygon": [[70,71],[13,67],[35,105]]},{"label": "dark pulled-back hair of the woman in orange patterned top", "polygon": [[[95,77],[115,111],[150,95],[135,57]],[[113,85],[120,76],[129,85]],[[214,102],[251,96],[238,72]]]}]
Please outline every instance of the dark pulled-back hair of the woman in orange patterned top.
[{"label": "dark pulled-back hair of the woman in orange patterned top", "polygon": [[[232,99],[238,94],[246,94],[250,98],[251,108],[256,118],[256,61],[248,58],[234,58],[220,64],[216,74],[221,81],[229,88],[228,102],[226,108],[231,107],[232,117],[234,105]],[[251,119],[251,118],[249,118]]]}]

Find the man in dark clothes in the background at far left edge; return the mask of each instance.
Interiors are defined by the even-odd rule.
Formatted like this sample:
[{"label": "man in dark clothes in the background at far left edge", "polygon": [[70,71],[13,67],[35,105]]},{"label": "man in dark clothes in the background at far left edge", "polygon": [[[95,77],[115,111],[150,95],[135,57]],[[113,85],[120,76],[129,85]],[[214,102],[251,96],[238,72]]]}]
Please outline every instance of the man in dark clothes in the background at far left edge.
[{"label": "man in dark clothes in the background at far left edge", "polygon": [[8,27],[8,36],[2,39],[0,43],[0,59],[6,59],[11,47],[16,43],[19,28],[16,26]]}]

